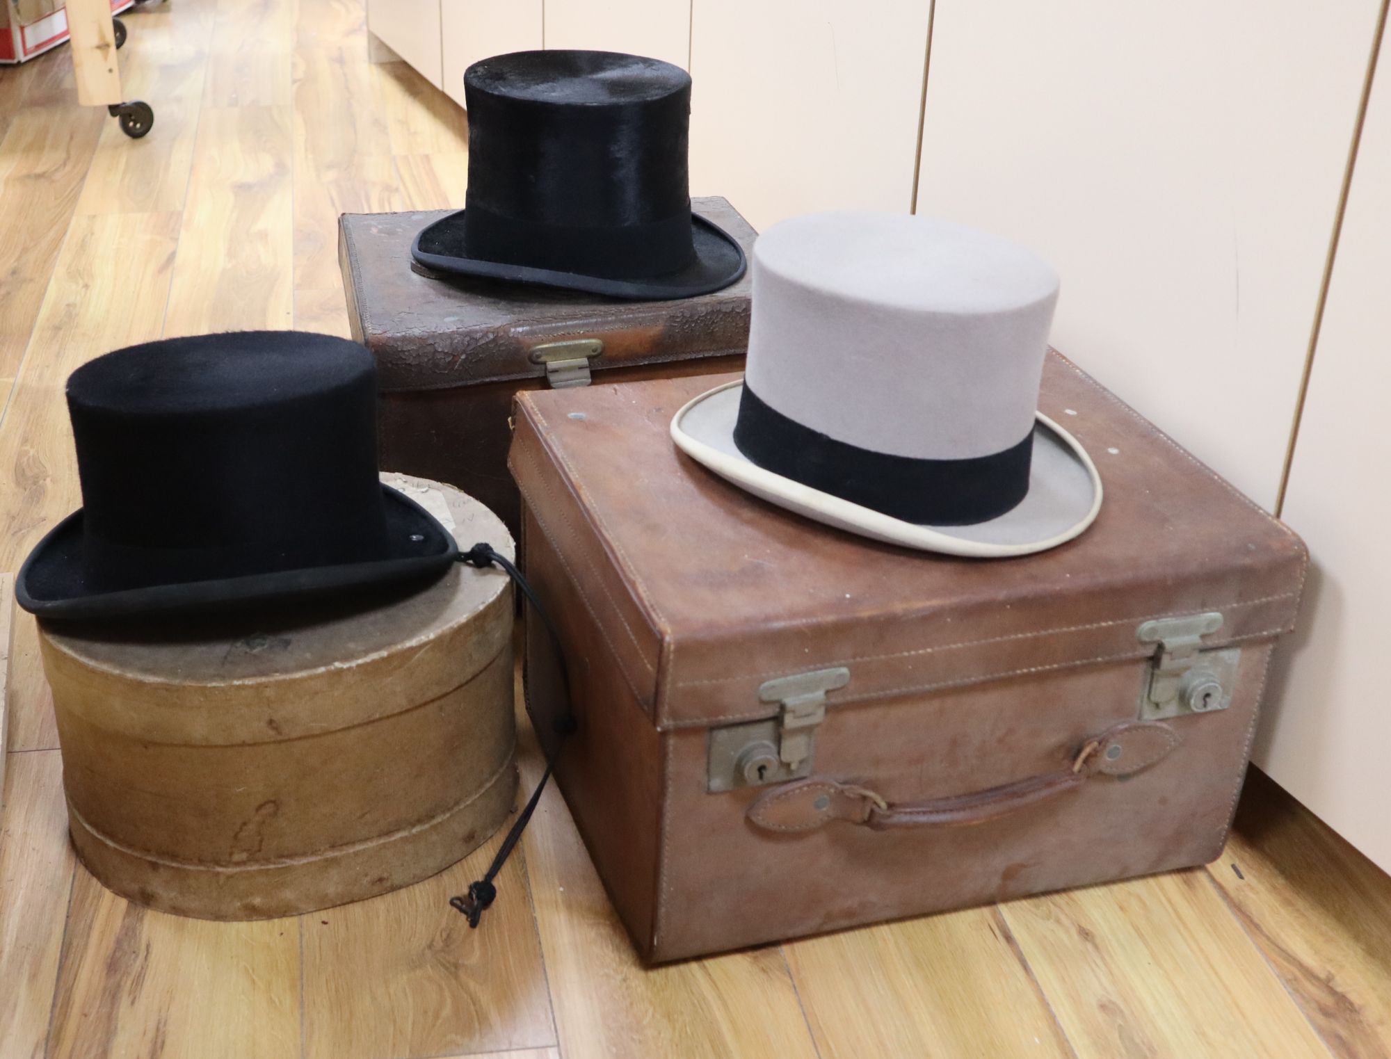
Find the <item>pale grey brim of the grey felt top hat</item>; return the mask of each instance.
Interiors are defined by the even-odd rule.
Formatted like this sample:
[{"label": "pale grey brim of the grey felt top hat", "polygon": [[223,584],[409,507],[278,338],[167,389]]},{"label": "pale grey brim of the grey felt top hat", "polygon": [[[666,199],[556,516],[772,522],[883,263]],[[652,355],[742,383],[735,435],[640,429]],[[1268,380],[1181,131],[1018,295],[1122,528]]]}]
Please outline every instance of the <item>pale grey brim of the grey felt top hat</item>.
[{"label": "pale grey brim of the grey felt top hat", "polygon": [[1057,548],[1102,509],[1102,478],[1081,443],[1042,413],[1034,429],[1029,492],[1015,507],[974,525],[917,525],[783,478],[734,445],[741,381],[716,386],[672,417],[672,441],[693,460],[769,503],[904,548],[975,559],[1006,559]]}]

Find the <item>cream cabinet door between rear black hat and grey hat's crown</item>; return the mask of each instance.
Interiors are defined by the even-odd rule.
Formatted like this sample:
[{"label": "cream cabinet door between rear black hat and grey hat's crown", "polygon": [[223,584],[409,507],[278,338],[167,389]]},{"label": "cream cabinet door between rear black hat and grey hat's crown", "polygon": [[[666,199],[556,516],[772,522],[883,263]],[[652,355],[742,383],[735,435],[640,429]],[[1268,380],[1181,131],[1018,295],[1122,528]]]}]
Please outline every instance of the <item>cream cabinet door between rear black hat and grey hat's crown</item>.
[{"label": "cream cabinet door between rear black hat and grey hat's crown", "polygon": [[691,193],[723,195],[758,229],[910,210],[929,7],[693,0]]}]

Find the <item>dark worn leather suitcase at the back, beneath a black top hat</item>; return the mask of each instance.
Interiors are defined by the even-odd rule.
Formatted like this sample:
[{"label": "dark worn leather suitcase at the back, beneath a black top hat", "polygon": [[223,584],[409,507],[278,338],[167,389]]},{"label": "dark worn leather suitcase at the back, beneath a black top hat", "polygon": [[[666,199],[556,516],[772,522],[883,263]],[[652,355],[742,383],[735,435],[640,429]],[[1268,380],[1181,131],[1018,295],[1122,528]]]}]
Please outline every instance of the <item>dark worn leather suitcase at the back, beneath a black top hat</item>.
[{"label": "dark worn leather suitcase at the back, beneath a black top hat", "polygon": [[[691,208],[747,254],[754,229],[725,199]],[[590,378],[732,371],[748,346],[746,275],[679,302],[619,302],[485,279],[437,278],[410,260],[430,213],[344,214],[338,260],[352,336],[377,357],[378,461],[458,485],[517,532],[508,417],[520,389]],[[591,375],[593,372],[593,375]]]}]

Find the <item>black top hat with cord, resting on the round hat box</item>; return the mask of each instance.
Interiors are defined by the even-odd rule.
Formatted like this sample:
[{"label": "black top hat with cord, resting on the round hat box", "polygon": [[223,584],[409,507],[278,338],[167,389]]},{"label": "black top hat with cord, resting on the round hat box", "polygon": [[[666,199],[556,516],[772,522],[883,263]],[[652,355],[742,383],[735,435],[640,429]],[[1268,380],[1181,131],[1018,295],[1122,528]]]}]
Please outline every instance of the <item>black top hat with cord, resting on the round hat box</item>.
[{"label": "black top hat with cord, resting on the round hat box", "polygon": [[210,611],[426,582],[453,538],[377,475],[356,342],[234,332],[131,346],[67,388],[82,509],[19,570],[43,618]]}]

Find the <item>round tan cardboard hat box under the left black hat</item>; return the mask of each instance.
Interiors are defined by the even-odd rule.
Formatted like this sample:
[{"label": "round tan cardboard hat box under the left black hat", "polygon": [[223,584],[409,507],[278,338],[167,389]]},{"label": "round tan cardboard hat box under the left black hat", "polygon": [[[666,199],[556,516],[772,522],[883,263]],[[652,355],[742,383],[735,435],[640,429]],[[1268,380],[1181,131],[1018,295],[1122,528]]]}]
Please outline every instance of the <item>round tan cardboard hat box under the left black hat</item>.
[{"label": "round tan cardboard hat box under the left black hat", "polygon": [[[512,557],[459,491],[383,475]],[[516,795],[512,588],[456,563],[373,606],[216,623],[40,623],[78,856],[131,901],[289,916],[435,874]]]}]

